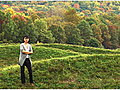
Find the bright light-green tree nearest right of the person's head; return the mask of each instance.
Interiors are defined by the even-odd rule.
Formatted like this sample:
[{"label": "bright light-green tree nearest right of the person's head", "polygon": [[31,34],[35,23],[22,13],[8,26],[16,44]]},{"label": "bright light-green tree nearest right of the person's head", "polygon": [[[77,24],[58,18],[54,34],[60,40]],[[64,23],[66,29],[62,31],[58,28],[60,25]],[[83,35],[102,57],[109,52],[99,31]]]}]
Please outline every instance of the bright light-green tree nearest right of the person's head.
[{"label": "bright light-green tree nearest right of the person's head", "polygon": [[35,19],[34,26],[35,33],[37,35],[37,41],[43,43],[53,43],[55,41],[51,31],[47,30],[47,23],[43,19]]}]

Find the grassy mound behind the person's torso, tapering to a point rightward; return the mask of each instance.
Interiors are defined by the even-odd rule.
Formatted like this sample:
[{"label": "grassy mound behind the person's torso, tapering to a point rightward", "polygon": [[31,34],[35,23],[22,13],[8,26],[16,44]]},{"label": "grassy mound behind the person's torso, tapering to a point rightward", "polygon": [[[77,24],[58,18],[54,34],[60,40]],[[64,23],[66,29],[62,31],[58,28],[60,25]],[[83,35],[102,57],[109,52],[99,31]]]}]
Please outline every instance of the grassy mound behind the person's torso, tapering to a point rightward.
[{"label": "grassy mound behind the person's torso, tapering to a point rightward", "polygon": [[[0,67],[18,64],[20,46],[0,47],[0,50]],[[31,59],[34,61],[56,57],[65,57],[69,55],[77,55],[77,53],[71,53],[65,50],[58,50],[46,47],[33,47],[33,52],[34,53],[31,55]]]}]

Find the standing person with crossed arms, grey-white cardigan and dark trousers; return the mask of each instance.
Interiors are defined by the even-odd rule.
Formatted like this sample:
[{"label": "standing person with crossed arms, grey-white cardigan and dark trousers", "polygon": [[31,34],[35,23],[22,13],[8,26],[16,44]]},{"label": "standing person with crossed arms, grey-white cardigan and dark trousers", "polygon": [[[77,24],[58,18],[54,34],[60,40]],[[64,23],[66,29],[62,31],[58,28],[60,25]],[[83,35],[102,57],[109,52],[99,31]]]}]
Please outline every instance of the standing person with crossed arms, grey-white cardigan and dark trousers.
[{"label": "standing person with crossed arms, grey-white cardigan and dark trousers", "polygon": [[32,75],[32,62],[30,55],[33,54],[32,46],[28,43],[29,36],[24,36],[24,43],[20,44],[20,57],[19,57],[19,65],[21,68],[21,82],[23,85],[25,84],[25,66],[27,67],[29,71],[29,79],[30,84],[34,86],[33,84],[33,75]]}]

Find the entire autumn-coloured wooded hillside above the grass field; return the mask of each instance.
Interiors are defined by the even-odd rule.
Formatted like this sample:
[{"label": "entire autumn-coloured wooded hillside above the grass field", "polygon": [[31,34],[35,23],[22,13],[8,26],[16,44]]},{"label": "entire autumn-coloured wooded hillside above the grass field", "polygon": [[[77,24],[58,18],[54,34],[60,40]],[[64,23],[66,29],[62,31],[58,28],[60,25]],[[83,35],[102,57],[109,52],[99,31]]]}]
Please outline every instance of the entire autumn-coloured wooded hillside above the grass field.
[{"label": "entire autumn-coloured wooded hillside above the grass field", "polygon": [[[0,43],[120,47],[120,1],[0,1]],[[14,36],[14,37],[13,37]]]}]

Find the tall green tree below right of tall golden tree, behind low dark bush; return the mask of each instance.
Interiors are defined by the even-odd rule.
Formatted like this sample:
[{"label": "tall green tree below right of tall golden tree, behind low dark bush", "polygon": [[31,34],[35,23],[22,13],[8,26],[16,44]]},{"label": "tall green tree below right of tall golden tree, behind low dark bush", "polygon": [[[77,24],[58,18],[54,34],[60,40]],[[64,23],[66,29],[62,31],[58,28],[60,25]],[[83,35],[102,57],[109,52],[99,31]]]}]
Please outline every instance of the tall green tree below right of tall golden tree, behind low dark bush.
[{"label": "tall green tree below right of tall golden tree, behind low dark bush", "polygon": [[90,28],[90,25],[85,20],[82,20],[78,25],[77,28],[81,30],[80,35],[82,36],[82,39],[84,39],[84,46],[89,46],[89,40],[93,36],[92,29]]}]

